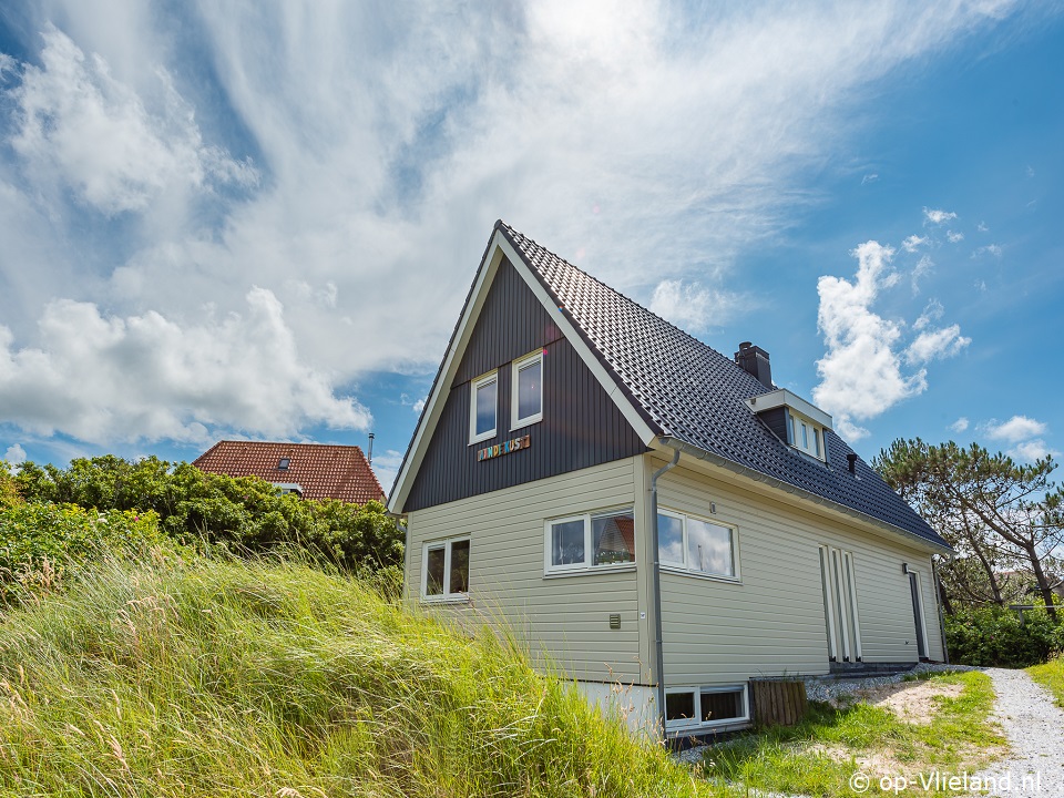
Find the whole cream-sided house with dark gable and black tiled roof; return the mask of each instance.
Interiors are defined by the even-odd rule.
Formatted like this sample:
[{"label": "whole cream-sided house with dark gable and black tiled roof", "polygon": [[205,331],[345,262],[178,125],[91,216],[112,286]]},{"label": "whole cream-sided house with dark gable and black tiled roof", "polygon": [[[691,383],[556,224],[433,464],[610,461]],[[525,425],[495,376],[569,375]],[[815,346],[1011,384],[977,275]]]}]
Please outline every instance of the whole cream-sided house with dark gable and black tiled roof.
[{"label": "whole cream-sided house with dark gable and black tiled roof", "polygon": [[669,735],[746,725],[751,678],[942,659],[949,545],[736,360],[497,223],[390,500],[408,595],[651,726],[664,692]]}]

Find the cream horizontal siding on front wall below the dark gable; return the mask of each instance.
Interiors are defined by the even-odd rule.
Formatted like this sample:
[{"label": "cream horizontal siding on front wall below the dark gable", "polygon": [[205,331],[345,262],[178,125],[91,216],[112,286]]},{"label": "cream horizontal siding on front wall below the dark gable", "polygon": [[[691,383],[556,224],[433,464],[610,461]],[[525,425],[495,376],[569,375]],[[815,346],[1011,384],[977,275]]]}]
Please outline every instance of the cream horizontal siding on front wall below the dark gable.
[{"label": "cream horizontal siding on front wall below the dark gable", "polygon": [[[426,541],[468,535],[471,601],[447,605],[449,613],[508,625],[541,664],[572,678],[640,682],[635,569],[543,574],[545,520],[631,507],[637,464],[618,460],[410,513],[407,595],[420,595]],[[612,613],[621,614],[620,630],[610,628]]]}]

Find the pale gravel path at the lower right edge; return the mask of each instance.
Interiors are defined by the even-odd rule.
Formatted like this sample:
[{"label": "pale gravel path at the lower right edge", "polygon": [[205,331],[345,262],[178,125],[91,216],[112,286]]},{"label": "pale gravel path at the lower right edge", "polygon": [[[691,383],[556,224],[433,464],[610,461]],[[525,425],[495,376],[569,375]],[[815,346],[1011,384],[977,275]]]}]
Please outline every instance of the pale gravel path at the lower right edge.
[{"label": "pale gravel path at the lower right edge", "polygon": [[1024,671],[986,668],[1012,756],[979,774],[999,786],[989,796],[1064,796],[1064,712]]}]

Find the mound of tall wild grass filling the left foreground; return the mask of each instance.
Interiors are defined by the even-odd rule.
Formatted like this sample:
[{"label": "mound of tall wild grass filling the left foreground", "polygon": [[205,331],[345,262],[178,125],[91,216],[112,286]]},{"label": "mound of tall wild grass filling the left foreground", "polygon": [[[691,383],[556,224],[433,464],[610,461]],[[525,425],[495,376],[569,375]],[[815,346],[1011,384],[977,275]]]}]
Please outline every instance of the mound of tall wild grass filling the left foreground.
[{"label": "mound of tall wild grass filling the left foreground", "polygon": [[0,623],[0,795],[706,795],[489,633],[294,563],[104,562]]}]

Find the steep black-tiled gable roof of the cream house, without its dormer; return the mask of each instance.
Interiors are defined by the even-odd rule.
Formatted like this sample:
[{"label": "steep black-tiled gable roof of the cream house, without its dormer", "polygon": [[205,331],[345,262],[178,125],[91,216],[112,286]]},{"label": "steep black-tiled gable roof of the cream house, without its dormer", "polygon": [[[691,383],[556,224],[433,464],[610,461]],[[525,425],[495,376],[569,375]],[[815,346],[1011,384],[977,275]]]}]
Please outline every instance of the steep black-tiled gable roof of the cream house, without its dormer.
[{"label": "steep black-tiled gable roof of the cream house, without its dormer", "polygon": [[[576,268],[503,222],[497,222],[488,250],[451,336],[393,490],[416,469],[421,439],[431,434],[433,407],[452,360],[460,357],[468,328],[479,313],[492,265],[505,256],[553,310],[559,326],[592,367],[647,446],[686,451],[849,514],[886,524],[935,548],[945,543],[833,432],[825,434],[831,464],[814,461],[780,441],[747,407],[746,399],[771,389],[712,347],[656,316],[601,280]],[[522,266],[524,268],[522,268]],[[574,340],[576,339],[576,340]],[[841,463],[841,466],[840,466]]]}]

